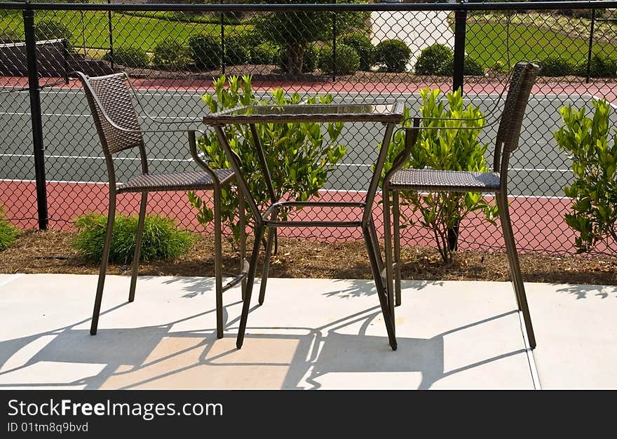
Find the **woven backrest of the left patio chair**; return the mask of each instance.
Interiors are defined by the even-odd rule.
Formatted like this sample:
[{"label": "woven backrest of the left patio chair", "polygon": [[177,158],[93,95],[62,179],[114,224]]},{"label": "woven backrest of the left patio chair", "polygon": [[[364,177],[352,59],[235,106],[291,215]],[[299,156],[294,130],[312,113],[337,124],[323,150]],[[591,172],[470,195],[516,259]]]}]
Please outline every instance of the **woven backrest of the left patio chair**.
[{"label": "woven backrest of the left patio chair", "polygon": [[[127,87],[125,73],[88,77],[75,72],[88,97],[90,111],[106,158],[134,147],[144,154],[144,138]],[[122,129],[120,129],[122,128]]]}]

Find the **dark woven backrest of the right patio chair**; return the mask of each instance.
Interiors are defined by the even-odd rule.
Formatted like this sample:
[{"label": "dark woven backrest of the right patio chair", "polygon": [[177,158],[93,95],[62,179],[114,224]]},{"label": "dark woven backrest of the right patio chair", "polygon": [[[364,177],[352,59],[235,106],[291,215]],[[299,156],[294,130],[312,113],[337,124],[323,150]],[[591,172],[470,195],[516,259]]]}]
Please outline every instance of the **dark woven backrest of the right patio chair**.
[{"label": "dark woven backrest of the right patio chair", "polygon": [[534,85],[539,71],[540,67],[531,62],[517,62],[514,66],[508,95],[506,95],[506,103],[503,106],[501,121],[497,130],[494,162],[496,170],[501,168],[499,162],[502,147],[503,153],[506,155],[509,155],[518,147],[529,93],[531,93],[531,87]]}]

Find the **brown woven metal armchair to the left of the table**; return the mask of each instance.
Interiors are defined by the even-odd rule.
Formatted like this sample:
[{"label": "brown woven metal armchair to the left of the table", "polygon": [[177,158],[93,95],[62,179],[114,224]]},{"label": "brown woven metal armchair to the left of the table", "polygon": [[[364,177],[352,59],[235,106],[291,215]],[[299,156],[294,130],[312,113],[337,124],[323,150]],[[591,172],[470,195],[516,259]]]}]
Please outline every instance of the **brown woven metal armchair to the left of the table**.
[{"label": "brown woven metal armchair to the left of the table", "polygon": [[[128,302],[135,299],[135,285],[137,283],[137,270],[140,260],[144,218],[149,192],[161,191],[213,191],[214,193],[214,217],[215,217],[215,290],[216,290],[216,313],[217,313],[217,337],[223,337],[223,301],[222,293],[242,282],[243,295],[245,282],[243,279],[248,273],[248,262],[245,259],[245,225],[244,203],[240,198],[240,274],[226,285],[222,285],[222,228],[221,228],[221,190],[225,185],[235,180],[231,169],[212,169],[208,166],[196,146],[196,130],[178,130],[165,128],[162,130],[142,130],[137,112],[133,105],[133,99],[137,100],[137,93],[128,76],[121,72],[105,76],[88,77],[82,72],[75,72],[79,77],[83,90],[88,97],[90,111],[92,112],[97,133],[100,138],[107,174],[109,176],[109,208],[107,214],[107,229],[103,246],[97,291],[90,334],[95,335],[101,309],[105,274],[111,246],[111,232],[114,227],[116,214],[116,194],[137,192],[142,194],[140,215],[137,223],[137,236],[135,238],[135,254],[133,257],[133,272],[130,279]],[[138,102],[138,101],[137,101]],[[155,121],[151,116],[149,119]],[[159,123],[186,123],[157,121]],[[148,159],[144,145],[143,133],[172,133],[187,132],[189,136],[189,149],[191,156],[201,167],[201,170],[152,174],[148,170]],[[121,184],[116,182],[116,168],[114,156],[127,149],[139,149],[141,173]],[[241,197],[241,194],[239,195]]]}]

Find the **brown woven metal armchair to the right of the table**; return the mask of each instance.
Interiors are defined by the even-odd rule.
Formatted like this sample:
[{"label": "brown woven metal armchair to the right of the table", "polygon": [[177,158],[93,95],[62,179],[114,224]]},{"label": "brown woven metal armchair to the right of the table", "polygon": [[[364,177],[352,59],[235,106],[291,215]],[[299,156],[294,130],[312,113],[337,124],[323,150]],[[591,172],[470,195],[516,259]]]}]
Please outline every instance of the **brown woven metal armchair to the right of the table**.
[{"label": "brown woven metal armchair to the right of the table", "polygon": [[[386,268],[384,271],[388,288],[388,301],[391,306],[391,316],[394,318],[394,302],[400,305],[400,206],[399,191],[426,191],[426,192],[482,192],[496,194],[499,207],[499,218],[503,239],[506,243],[506,253],[510,264],[510,273],[514,285],[518,309],[522,311],[527,337],[531,349],[536,347],[534,329],[529,316],[529,306],[525,295],[524,284],[520,271],[514,241],[510,211],[508,209],[508,161],[510,154],[518,147],[522,119],[527,101],[531,93],[539,67],[530,62],[518,62],[510,74],[508,94],[504,104],[497,131],[494,172],[477,173],[466,171],[430,170],[430,169],[401,169],[409,158],[412,148],[419,137],[419,130],[447,129],[430,126],[420,128],[420,118],[414,118],[412,127],[405,128],[405,148],[395,158],[393,166],[384,176],[384,247],[386,254]],[[428,125],[428,123],[427,123]],[[459,128],[461,129],[461,128]],[[464,128],[462,128],[464,129]],[[392,195],[394,248],[392,249],[391,206]],[[394,255],[392,255],[394,250]],[[394,278],[394,285],[393,285]],[[395,292],[395,301],[393,297]]]}]

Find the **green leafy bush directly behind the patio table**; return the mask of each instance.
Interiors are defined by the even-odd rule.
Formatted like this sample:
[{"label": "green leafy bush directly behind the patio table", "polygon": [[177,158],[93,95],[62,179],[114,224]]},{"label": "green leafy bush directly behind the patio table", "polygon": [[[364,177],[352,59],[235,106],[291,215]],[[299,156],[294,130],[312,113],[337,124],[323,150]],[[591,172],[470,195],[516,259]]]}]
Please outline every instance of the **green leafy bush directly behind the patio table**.
[{"label": "green leafy bush directly behind the patio table", "polygon": [[[225,75],[214,81],[215,91],[202,96],[203,102],[210,112],[220,112],[240,105],[262,104],[252,91],[251,77],[231,76],[229,83]],[[271,92],[271,102],[274,104],[299,104],[297,93],[285,95],[285,91],[277,88]],[[308,97],[307,104],[330,103],[332,96]],[[270,173],[276,196],[285,194],[286,198],[306,201],[311,196],[318,196],[318,190],[323,187],[327,175],[345,154],[344,145],[337,144],[343,128],[342,123],[328,123],[325,128],[327,136],[322,133],[324,125],[318,123],[261,123],[256,126],[259,138],[262,140],[266,162],[271,166]],[[250,128],[245,125],[225,127],[225,135],[231,147],[238,153],[243,163],[245,180],[259,208],[264,208],[270,201],[266,182],[259,166],[257,151],[253,144]],[[229,168],[230,164],[215,133],[208,132],[198,139],[198,145],[213,168]],[[273,164],[276,163],[276,166]],[[208,223],[214,217],[212,210],[203,203],[194,192],[189,192],[189,201],[198,209],[198,220]],[[234,190],[222,193],[223,221],[233,231],[233,237],[239,236],[238,223],[235,215],[238,211],[238,196]],[[248,212],[250,217],[250,212]],[[280,210],[280,216],[285,217],[287,210]]]}]

